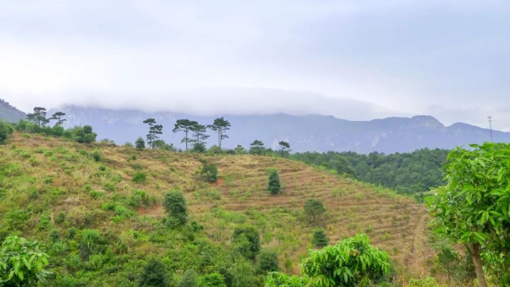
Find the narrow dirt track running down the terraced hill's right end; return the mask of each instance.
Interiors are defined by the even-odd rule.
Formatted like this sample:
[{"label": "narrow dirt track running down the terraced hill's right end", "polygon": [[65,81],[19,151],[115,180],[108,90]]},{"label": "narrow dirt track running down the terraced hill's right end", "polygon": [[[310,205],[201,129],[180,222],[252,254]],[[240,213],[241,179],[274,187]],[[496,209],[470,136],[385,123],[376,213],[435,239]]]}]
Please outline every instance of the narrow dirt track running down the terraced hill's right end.
[{"label": "narrow dirt track running down the terraced hill's right end", "polygon": [[409,270],[411,270],[411,272],[417,276],[420,275],[420,273],[426,272],[423,267],[426,266],[425,261],[428,259],[427,250],[425,247],[428,241],[427,224],[428,217],[425,213],[416,225],[413,234],[413,245],[411,247],[412,249],[406,258],[408,261],[407,266],[409,266]]}]

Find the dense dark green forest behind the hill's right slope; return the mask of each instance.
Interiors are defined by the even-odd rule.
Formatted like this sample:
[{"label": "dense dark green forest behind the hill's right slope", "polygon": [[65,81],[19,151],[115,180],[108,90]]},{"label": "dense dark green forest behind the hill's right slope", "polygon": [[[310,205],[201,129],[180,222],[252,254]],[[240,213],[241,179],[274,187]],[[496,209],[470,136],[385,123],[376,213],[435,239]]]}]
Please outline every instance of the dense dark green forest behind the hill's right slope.
[{"label": "dense dark green forest behind the hill's right slope", "polygon": [[292,158],[307,164],[323,166],[348,174],[362,181],[413,194],[428,191],[443,184],[441,166],[448,150],[419,149],[407,153],[384,154],[371,152],[302,152]]}]

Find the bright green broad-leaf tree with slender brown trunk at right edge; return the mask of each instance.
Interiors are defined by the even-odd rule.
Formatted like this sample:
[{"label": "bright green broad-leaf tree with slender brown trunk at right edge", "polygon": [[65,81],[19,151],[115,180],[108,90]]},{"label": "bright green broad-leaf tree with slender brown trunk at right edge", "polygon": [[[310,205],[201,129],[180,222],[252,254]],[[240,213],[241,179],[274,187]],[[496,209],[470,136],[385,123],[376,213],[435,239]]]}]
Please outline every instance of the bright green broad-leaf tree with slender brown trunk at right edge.
[{"label": "bright green broad-leaf tree with slender brown trunk at right edge", "polygon": [[[427,198],[432,223],[469,251],[480,286],[487,286],[483,264],[496,264],[493,276],[510,284],[510,144],[470,146],[448,154],[447,183]],[[482,253],[495,257],[482,263]]]}]

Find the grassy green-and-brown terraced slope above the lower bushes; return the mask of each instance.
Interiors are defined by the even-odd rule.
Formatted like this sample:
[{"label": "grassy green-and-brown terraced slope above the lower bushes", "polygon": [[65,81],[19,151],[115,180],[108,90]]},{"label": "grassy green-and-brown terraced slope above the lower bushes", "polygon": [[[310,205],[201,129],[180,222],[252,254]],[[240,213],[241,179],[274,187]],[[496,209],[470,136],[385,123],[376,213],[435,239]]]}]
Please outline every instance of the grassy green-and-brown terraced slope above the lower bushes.
[{"label": "grassy green-and-brown terraced slope above the lower bushes", "polygon": [[[98,162],[94,151],[100,153]],[[198,177],[200,160],[218,166],[217,182],[209,184]],[[269,167],[279,172],[279,195],[266,191]],[[137,151],[14,134],[8,145],[0,146],[0,172],[0,238],[17,233],[48,241],[52,232],[63,238],[71,227],[97,228],[123,246],[111,247],[116,254],[142,258],[147,253],[191,252],[176,243],[178,239],[171,244],[154,239],[163,236],[158,230],[164,216],[163,194],[178,187],[187,199],[190,220],[205,227],[204,238],[228,249],[233,229],[251,223],[260,231],[263,248],[276,250],[281,268],[289,273],[299,272],[300,258],[312,248],[317,227],[325,229],[330,242],[368,233],[375,246],[404,267],[402,272],[419,275],[432,254],[424,206],[389,190],[282,158]],[[133,176],[140,172],[147,174],[147,180],[135,184]],[[149,199],[127,204],[124,210],[119,207],[120,211],[105,208],[108,202],[133,201],[140,190]],[[321,200],[327,209],[315,222],[302,212],[310,198]],[[168,232],[165,236],[173,234]],[[62,252],[56,256],[70,256],[72,245]],[[67,259],[62,260],[53,271],[73,275]]]}]

